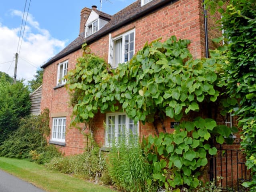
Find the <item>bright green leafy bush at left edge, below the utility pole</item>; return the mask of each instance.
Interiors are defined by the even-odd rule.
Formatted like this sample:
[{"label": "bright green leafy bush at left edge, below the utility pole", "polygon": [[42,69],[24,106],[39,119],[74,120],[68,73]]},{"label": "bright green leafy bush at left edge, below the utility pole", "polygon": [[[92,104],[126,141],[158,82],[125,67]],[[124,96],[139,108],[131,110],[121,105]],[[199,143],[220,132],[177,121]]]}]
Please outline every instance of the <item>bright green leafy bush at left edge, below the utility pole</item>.
[{"label": "bright green leafy bush at left edge, below the utility pole", "polygon": [[22,82],[12,84],[5,76],[0,78],[0,145],[18,128],[20,118],[29,114],[28,87]]}]

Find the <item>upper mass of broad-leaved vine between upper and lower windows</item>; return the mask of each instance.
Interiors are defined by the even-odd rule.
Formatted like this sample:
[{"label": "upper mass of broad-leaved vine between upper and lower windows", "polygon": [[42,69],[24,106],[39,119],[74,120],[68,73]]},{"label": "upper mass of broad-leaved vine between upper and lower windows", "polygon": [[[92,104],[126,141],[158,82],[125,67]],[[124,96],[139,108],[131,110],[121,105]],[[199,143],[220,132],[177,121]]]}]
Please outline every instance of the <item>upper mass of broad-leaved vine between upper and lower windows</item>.
[{"label": "upper mass of broad-leaved vine between upper and lower windows", "polygon": [[130,62],[111,71],[86,50],[67,76],[74,122],[88,122],[98,111],[114,112],[120,108],[117,103],[135,122],[166,116],[180,120],[184,110],[198,111],[199,103],[216,101],[216,58],[192,59],[189,43],[173,36],[146,44]]}]

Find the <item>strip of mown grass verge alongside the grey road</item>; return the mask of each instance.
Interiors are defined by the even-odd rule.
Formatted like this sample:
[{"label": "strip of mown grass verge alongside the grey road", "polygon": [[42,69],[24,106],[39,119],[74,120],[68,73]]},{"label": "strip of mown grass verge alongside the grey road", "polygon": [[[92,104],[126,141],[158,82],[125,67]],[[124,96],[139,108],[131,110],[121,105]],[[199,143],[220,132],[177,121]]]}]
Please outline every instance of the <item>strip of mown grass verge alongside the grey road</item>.
[{"label": "strip of mown grass verge alongside the grey road", "polygon": [[47,192],[115,192],[67,174],[47,170],[28,160],[0,157],[0,169]]}]

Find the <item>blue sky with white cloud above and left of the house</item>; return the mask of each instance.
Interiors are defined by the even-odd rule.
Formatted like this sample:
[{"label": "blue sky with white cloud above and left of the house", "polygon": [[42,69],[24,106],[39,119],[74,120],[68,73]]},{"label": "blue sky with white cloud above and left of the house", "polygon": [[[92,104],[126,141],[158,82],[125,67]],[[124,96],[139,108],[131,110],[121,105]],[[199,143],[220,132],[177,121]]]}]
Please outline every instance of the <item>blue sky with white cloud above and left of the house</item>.
[{"label": "blue sky with white cloud above and left of the house", "polygon": [[[134,1],[102,0],[102,11],[113,15]],[[78,37],[80,11],[92,5],[100,10],[100,0],[0,0],[0,71],[14,77],[18,52],[17,79],[32,80],[44,62]]]}]

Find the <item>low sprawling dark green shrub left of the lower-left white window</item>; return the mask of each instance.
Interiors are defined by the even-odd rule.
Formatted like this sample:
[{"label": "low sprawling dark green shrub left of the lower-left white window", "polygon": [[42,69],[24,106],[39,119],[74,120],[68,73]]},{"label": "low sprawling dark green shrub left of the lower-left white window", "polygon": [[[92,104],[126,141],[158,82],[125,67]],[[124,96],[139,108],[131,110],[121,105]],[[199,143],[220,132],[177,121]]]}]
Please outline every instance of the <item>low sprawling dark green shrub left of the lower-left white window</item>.
[{"label": "low sprawling dark green shrub left of the lower-left white window", "polygon": [[[45,136],[49,135],[49,111],[39,116],[21,119],[20,127],[0,146],[0,156],[32,158],[40,164],[60,156],[54,146],[48,146]],[[34,159],[33,159],[34,158]]]}]

